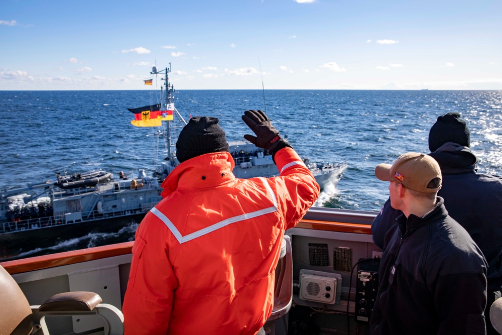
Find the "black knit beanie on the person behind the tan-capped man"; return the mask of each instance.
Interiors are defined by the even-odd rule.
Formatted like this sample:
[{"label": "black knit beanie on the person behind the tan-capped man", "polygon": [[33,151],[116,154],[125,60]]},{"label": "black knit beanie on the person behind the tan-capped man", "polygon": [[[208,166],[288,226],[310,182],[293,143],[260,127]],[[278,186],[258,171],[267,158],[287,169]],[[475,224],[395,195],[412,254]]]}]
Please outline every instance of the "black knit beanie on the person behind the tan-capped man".
[{"label": "black knit beanie on the person behind the tan-capped man", "polygon": [[447,113],[438,117],[429,132],[429,150],[434,152],[446,142],[470,147],[470,132],[458,113]]}]

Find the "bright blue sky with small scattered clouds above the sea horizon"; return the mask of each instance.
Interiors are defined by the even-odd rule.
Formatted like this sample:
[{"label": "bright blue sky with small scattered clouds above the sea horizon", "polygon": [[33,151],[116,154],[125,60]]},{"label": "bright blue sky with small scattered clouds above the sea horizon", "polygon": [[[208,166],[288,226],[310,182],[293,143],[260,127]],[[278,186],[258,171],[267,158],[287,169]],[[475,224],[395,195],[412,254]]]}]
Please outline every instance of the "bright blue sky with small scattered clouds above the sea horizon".
[{"label": "bright blue sky with small scattered clouds above the sea horizon", "polygon": [[[502,1],[2,0],[0,90],[502,89]],[[259,62],[260,60],[260,62]],[[261,64],[261,70],[260,70]]]}]

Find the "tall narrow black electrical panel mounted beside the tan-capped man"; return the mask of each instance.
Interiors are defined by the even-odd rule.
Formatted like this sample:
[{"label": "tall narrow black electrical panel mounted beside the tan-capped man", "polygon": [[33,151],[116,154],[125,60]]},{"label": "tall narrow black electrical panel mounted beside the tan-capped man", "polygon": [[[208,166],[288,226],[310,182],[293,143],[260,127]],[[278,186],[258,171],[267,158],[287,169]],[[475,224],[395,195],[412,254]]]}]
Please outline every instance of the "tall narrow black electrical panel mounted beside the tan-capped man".
[{"label": "tall narrow black electrical panel mounted beside the tan-capped man", "polygon": [[369,323],[379,285],[380,259],[373,258],[359,263],[355,284],[355,321]]}]

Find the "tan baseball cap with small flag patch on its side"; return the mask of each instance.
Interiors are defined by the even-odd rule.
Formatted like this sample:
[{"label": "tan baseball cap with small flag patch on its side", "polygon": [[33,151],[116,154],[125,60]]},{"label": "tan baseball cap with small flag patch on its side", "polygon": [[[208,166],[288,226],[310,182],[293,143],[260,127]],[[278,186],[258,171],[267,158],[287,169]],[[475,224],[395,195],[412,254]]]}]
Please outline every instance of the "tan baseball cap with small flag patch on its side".
[{"label": "tan baseball cap with small flag patch on its side", "polygon": [[441,184],[436,188],[428,188],[427,185],[434,178],[439,178],[441,181],[443,179],[434,158],[417,152],[399,156],[392,165],[377,165],[375,176],[383,181],[396,181],[408,189],[423,193],[439,191]]}]

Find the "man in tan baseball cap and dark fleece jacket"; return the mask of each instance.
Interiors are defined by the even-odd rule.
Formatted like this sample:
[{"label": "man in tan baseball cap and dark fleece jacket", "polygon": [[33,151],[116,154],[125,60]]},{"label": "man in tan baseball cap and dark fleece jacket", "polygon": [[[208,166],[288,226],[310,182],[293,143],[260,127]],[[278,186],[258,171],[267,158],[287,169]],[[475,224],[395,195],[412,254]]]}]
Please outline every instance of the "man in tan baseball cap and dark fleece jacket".
[{"label": "man in tan baseball cap and dark fleece jacket", "polygon": [[485,334],[487,264],[436,196],[438,163],[410,152],[375,176],[403,214],[385,235],[371,334]]}]

